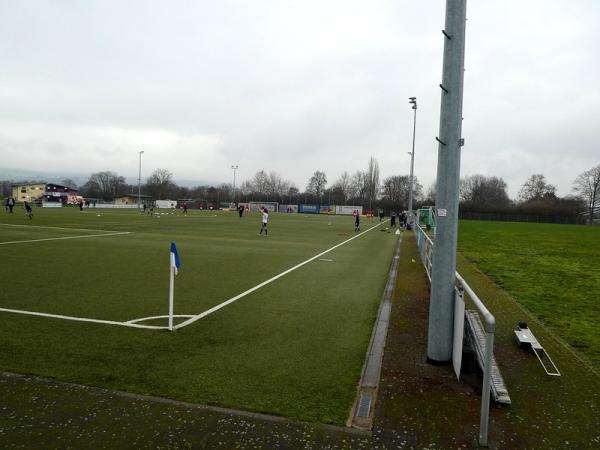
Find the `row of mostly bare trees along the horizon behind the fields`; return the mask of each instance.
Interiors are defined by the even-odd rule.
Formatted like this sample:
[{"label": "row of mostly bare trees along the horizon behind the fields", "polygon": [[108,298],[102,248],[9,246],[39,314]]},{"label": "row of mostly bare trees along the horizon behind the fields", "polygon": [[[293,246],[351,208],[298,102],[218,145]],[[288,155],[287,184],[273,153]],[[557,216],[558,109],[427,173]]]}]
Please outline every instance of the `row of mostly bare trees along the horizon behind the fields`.
[{"label": "row of mostly bare trees along the horizon behind the fields", "polygon": [[[77,187],[69,179],[63,184]],[[0,181],[2,193],[9,195],[10,182]],[[79,187],[86,198],[113,201],[126,194],[136,195],[137,184],[127,184],[123,176],[112,171],[93,173]],[[365,170],[343,172],[329,185],[325,172],[317,170],[301,190],[277,172],[259,170],[243,181],[235,191],[230,183],[218,186],[178,186],[173,173],[156,169],[144,180],[141,193],[154,200],[197,199],[209,202],[271,201],[284,204],[356,205],[367,210],[405,210],[410,191],[409,175],[393,175],[380,180],[379,164],[371,157]],[[427,193],[414,177],[415,207],[435,204],[435,184]],[[501,177],[469,175],[460,180],[461,213],[530,214],[541,216],[583,217],[592,223],[594,211],[600,208],[600,164],[581,173],[573,181],[573,194],[559,197],[557,188],[543,174],[531,175],[521,186],[517,199],[508,196],[507,184]],[[581,221],[581,220],[578,220]]]}]

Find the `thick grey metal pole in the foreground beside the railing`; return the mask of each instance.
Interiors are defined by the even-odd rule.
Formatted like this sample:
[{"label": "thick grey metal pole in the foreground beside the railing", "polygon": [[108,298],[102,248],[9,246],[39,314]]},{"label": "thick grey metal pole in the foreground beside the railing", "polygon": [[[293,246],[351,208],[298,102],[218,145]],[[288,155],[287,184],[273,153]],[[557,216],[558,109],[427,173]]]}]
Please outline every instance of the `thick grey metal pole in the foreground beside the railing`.
[{"label": "thick grey metal pole in the foreground beside the railing", "polygon": [[437,228],[427,337],[427,358],[433,363],[452,359],[460,148],[463,145],[465,24],[466,0],[446,0],[440,135],[436,138],[439,143],[435,200]]}]

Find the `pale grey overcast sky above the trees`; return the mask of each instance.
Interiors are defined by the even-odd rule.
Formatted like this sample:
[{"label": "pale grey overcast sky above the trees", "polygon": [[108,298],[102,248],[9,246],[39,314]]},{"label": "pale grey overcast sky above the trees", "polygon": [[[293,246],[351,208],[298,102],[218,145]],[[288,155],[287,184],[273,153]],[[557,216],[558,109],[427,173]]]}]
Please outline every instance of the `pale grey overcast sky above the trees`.
[{"label": "pale grey overcast sky above the trees", "polygon": [[[467,2],[461,175],[600,164],[600,1]],[[0,0],[0,168],[436,177],[443,0]]]}]

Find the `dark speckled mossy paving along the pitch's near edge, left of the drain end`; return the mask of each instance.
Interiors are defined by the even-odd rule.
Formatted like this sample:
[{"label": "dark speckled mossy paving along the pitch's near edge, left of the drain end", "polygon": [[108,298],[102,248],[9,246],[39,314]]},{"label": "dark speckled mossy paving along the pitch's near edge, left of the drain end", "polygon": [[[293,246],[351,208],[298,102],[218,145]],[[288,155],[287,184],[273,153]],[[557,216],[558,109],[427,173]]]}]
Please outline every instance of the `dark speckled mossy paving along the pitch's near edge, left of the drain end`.
[{"label": "dark speckled mossy paving along the pitch's near edge, left of the drain end", "polygon": [[374,448],[368,434],[0,375],[0,448]]}]

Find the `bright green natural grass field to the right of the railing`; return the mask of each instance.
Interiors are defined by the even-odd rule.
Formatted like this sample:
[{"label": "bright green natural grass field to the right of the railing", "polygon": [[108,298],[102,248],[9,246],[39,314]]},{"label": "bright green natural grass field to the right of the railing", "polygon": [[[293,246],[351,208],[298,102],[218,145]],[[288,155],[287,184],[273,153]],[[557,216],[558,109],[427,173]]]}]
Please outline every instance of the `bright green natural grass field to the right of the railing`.
[{"label": "bright green natural grass field to the right of the railing", "polygon": [[461,221],[459,251],[600,370],[600,228]]}]

